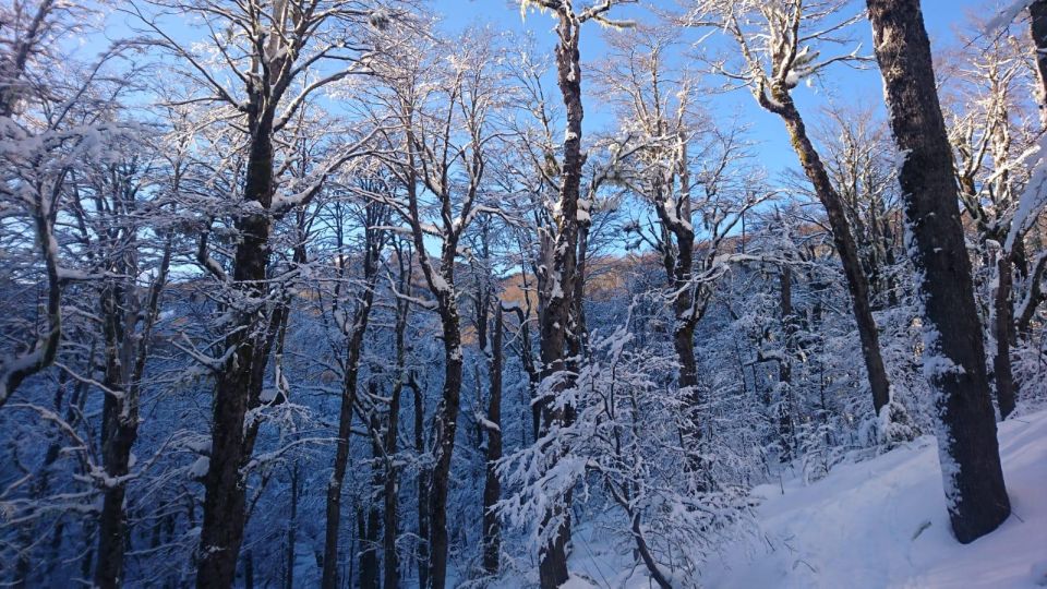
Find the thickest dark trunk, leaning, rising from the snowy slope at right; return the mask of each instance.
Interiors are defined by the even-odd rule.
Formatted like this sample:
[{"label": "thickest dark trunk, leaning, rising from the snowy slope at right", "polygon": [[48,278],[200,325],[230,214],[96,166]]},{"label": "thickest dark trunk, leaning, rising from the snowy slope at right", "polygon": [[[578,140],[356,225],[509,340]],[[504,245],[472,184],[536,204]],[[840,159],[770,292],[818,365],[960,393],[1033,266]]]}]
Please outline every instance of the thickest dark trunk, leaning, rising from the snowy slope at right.
[{"label": "thickest dark trunk, leaning, rising from the snowy slope at right", "polygon": [[910,255],[919,277],[925,364],[941,420],[939,455],[949,517],[962,543],[1010,515],[989,398],[982,325],[964,247],[952,152],[918,0],[868,0],[891,129],[905,159],[899,176]]}]

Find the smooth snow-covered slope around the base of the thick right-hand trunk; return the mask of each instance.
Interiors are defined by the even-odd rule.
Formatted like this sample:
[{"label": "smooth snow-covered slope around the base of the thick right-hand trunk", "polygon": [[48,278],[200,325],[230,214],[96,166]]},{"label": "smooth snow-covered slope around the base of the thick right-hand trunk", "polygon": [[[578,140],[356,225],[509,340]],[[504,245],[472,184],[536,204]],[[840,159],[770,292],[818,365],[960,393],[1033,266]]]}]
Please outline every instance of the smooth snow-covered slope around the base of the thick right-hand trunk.
[{"label": "smooth snow-covered slope around the base of the thick right-hand trunk", "polygon": [[[999,437],[1013,515],[989,536],[967,545],[952,538],[935,441],[925,436],[840,465],[810,485],[794,479],[757,488],[758,540],[723,546],[695,581],[738,589],[1047,586],[1047,411],[1008,420]],[[600,587],[649,586],[642,566],[623,573],[593,549],[599,541],[579,536],[571,570]]]}]

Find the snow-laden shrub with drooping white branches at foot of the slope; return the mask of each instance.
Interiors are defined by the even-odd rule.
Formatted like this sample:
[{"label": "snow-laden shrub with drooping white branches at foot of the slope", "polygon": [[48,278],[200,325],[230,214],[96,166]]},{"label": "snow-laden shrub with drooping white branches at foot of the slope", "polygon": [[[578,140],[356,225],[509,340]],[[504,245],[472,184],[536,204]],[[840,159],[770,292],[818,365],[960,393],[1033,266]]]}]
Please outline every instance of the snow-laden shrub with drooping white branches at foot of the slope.
[{"label": "snow-laden shrub with drooping white branches at foot of the slope", "polygon": [[[686,396],[665,385],[675,363],[633,346],[627,327],[593,338],[591,357],[555,398],[573,413],[529,447],[505,458],[500,476],[512,490],[497,506],[512,525],[531,530],[534,546],[549,543],[568,510],[606,506],[607,525],[658,582],[690,586],[698,566],[723,536],[745,529],[747,493],[710,486],[697,472],[717,460],[715,446],[686,448],[682,431],[696,425]],[[700,425],[698,423],[697,425]]]}]

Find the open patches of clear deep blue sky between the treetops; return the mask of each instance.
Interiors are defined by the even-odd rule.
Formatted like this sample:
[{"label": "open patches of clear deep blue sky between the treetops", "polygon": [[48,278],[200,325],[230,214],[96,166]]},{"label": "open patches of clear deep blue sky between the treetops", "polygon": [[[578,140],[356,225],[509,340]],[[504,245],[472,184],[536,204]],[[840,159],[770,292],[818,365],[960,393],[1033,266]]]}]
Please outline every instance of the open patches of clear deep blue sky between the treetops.
[{"label": "open patches of clear deep blue sky between the treetops", "polygon": [[[648,3],[651,0],[641,0]],[[653,0],[655,5],[667,0]],[[552,47],[554,21],[547,14],[532,13],[526,19],[515,0],[434,0],[437,13],[445,17],[449,31],[460,31],[469,26],[488,25],[497,29],[528,32],[540,43]],[[854,10],[864,8],[865,2],[855,2]],[[968,14],[989,15],[997,2],[992,0],[924,0],[924,21],[931,38],[931,49],[936,53],[954,46],[954,31],[963,27]],[[645,12],[637,7],[626,7],[627,15],[645,19]],[[854,34],[861,38],[863,51],[871,55],[871,34],[867,23],[858,23]],[[599,59],[605,48],[603,32],[594,23],[583,33],[581,53],[583,60]],[[882,84],[876,69],[856,71],[847,67],[835,67],[828,72],[831,79],[815,87],[801,85],[794,91],[801,112],[809,123],[815,122],[819,109],[830,101],[869,106],[882,111]],[[785,129],[778,117],[761,110],[753,97],[744,92],[729,96],[712,97],[711,108],[725,116],[736,116],[739,122],[751,125],[750,139],[758,143],[756,153],[760,163],[770,171],[778,172],[785,167],[796,165],[796,156],[789,144]],[[601,111],[599,105],[586,103],[587,130],[600,129],[611,124],[609,113]]]}]

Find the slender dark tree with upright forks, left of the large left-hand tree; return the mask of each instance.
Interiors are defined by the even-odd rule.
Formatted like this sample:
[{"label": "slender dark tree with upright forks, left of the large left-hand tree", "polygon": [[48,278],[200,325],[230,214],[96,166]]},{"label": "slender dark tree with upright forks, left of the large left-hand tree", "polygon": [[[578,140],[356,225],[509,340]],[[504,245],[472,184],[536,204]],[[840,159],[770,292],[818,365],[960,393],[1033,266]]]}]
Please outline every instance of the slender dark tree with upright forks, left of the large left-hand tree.
[{"label": "slender dark tree with upright forks, left of the large left-hand tree", "polygon": [[[176,164],[172,185],[178,191],[179,169]],[[153,344],[153,330],[160,312],[160,294],[167,284],[171,263],[173,233],[163,223],[149,229],[166,235],[159,245],[159,260],[154,266],[154,278],[143,288],[133,277],[145,269],[142,260],[145,227],[140,225],[143,205],[143,173],[148,164],[130,158],[98,170],[92,200],[99,214],[85,218],[87,207],[76,194],[74,215],[82,228],[81,244],[97,248],[92,255],[95,271],[106,278],[98,293],[103,332],[103,381],[105,394],[101,414],[101,459],[105,468],[101,513],[98,516],[98,550],[96,552],[95,585],[103,588],[120,587],[124,580],[127,513],[124,508],[127,483],[131,478],[131,449],[139,433],[140,407],[146,360]],[[147,189],[146,189],[147,190]],[[164,208],[159,213],[165,214]],[[94,244],[93,238],[98,243]]]}]

